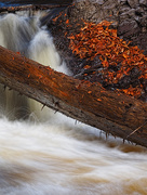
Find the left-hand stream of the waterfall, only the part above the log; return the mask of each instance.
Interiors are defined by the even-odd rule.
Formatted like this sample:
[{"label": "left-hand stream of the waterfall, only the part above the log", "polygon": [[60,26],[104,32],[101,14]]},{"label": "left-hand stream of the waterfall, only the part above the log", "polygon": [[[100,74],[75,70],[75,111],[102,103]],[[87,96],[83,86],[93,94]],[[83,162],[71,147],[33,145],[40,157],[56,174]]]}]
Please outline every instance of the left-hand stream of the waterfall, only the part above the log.
[{"label": "left-hand stream of the waterfall, only the part above the log", "polygon": [[27,55],[28,44],[38,30],[38,20],[6,14],[0,18],[0,44]]}]

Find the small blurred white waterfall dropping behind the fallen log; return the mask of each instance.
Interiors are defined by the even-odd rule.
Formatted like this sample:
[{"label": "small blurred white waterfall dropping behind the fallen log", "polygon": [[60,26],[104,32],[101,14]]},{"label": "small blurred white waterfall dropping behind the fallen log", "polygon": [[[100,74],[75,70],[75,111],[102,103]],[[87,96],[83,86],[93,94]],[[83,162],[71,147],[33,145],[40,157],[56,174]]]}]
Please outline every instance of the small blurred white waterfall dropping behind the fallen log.
[{"label": "small blurred white waterfall dropping behind the fallen log", "polygon": [[[11,13],[1,16],[0,46],[67,74],[65,63],[62,62],[55,49],[52,36],[45,26],[40,27],[40,12],[34,16],[29,16],[28,13]],[[13,90],[6,89],[4,91],[3,86],[1,86],[0,93],[2,114],[10,119],[34,116],[44,120],[48,115],[50,116],[49,108],[41,110],[41,104],[26,96],[19,96]]]}]

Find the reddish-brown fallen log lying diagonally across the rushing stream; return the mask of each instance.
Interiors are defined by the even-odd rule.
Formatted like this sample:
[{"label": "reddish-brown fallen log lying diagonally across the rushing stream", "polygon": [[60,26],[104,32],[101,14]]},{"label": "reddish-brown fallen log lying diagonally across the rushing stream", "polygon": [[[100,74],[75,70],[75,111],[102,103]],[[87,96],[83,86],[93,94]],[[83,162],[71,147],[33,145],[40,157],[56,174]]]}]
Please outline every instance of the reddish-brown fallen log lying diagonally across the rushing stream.
[{"label": "reddish-brown fallen log lying diagonally across the rushing stream", "polygon": [[147,147],[147,103],[74,79],[0,47],[0,82],[43,105]]}]

